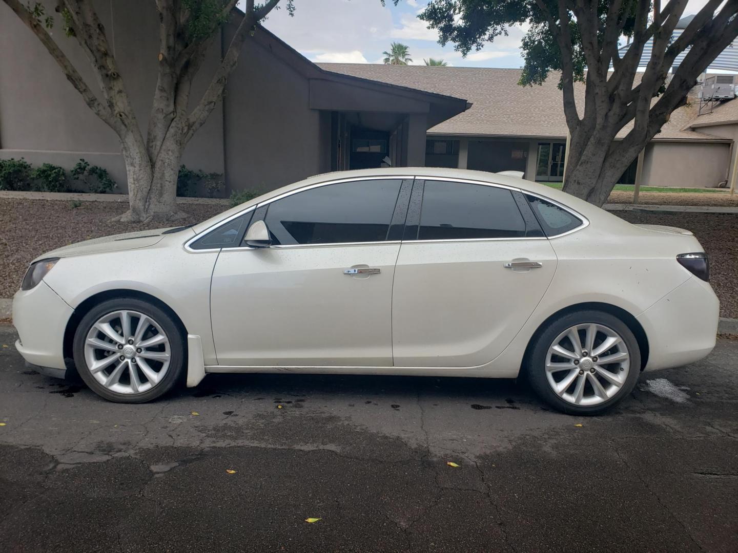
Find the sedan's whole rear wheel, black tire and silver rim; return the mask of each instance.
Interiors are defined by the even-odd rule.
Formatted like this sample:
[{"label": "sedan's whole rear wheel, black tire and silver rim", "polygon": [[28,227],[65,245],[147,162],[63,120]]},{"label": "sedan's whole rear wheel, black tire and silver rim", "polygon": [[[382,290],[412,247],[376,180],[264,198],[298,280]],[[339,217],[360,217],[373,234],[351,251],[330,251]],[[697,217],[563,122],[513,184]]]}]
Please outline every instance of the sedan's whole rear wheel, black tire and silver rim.
[{"label": "sedan's whole rear wheel, black tire and silver rim", "polygon": [[[587,351],[588,344],[592,351]],[[641,374],[641,351],[621,319],[581,310],[546,324],[532,344],[526,365],[531,386],[550,406],[567,414],[596,415],[630,394]]]}]

